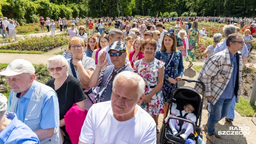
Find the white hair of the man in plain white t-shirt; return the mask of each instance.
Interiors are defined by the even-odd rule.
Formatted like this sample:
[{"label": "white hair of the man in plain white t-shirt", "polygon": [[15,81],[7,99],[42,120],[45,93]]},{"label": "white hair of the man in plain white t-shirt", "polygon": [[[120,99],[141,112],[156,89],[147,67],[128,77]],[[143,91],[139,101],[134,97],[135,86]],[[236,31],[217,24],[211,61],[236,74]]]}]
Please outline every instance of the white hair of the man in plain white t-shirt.
[{"label": "white hair of the man in plain white t-shirt", "polygon": [[116,80],[118,78],[124,79],[123,82],[126,82],[129,85],[138,84],[138,86],[137,86],[138,99],[137,100],[139,100],[140,97],[144,94],[144,92],[145,92],[144,88],[146,85],[145,85],[143,78],[140,75],[138,75],[137,73],[131,72],[131,71],[123,71],[123,72],[120,72],[119,74],[117,74],[113,81],[112,90],[113,90],[114,86],[116,85]]}]

